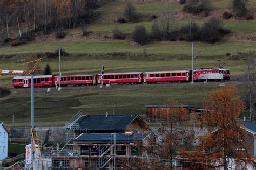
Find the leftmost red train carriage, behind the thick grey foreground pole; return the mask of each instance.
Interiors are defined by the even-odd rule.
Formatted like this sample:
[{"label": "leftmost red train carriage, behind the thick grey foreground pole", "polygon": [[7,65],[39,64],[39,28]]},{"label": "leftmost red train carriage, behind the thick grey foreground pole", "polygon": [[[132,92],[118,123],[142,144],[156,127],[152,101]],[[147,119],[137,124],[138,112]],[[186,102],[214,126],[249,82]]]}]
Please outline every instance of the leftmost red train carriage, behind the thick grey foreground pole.
[{"label": "leftmost red train carriage, behind the thick grey foreground pole", "polygon": [[[34,87],[52,87],[53,75],[34,76]],[[31,87],[30,76],[15,76],[12,78],[12,86],[15,88]]]}]

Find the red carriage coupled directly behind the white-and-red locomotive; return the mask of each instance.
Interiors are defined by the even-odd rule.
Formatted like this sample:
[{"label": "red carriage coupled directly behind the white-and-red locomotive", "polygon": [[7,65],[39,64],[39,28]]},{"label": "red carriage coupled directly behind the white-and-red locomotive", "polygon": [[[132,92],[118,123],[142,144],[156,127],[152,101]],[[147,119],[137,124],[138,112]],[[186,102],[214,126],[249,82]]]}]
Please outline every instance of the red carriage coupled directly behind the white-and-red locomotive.
[{"label": "red carriage coupled directly behind the white-and-red locomotive", "polygon": [[190,74],[189,70],[145,72],[143,73],[143,82],[189,82],[191,80]]}]

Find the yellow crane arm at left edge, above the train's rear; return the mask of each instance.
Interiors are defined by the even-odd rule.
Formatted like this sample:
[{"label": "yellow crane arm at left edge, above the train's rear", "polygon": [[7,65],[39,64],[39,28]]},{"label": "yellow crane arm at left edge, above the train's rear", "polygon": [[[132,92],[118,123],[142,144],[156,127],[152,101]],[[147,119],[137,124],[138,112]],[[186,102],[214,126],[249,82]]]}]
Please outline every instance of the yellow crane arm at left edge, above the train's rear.
[{"label": "yellow crane arm at left edge, above the train's rear", "polygon": [[12,66],[12,67],[8,67],[8,68],[0,69],[0,76],[14,75],[14,74],[21,74],[21,75],[34,74],[38,65],[39,65],[39,63],[41,61],[42,61],[42,58],[34,60],[34,61],[25,62],[25,63],[22,63],[21,65],[17,65],[17,66],[22,66],[22,65],[26,65],[26,64],[31,63],[31,62],[36,62],[31,70],[7,70],[7,69],[14,68],[14,67],[17,67],[17,66]]}]

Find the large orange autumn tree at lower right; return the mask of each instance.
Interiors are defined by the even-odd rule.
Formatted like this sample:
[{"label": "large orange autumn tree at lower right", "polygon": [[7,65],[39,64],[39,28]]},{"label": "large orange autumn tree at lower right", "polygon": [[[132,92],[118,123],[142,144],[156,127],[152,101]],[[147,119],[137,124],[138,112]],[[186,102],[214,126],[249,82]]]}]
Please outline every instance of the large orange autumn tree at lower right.
[{"label": "large orange autumn tree at lower right", "polygon": [[[183,156],[194,162],[198,169],[216,167],[228,168],[228,165],[240,167],[252,164],[245,141],[250,141],[237,119],[244,110],[237,88],[226,85],[205,98],[206,111],[199,117],[199,123],[206,127],[208,134],[201,138],[197,151],[186,152]],[[232,162],[231,162],[232,161]]]}]

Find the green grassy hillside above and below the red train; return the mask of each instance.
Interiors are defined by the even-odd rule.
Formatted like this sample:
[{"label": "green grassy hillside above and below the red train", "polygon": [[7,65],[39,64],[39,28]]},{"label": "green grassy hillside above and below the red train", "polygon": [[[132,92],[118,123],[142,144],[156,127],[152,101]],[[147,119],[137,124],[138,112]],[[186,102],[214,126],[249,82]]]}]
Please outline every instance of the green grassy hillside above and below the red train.
[{"label": "green grassy hillside above and below the red train", "polygon": [[[228,8],[231,1],[211,0],[211,4],[218,10]],[[250,8],[256,7],[256,1],[249,1]],[[143,16],[157,15],[163,5],[161,2],[138,2],[135,3],[138,13]],[[172,3],[173,9],[180,12],[182,6]],[[64,39],[55,39],[55,35],[36,37],[36,42],[18,47],[1,47],[0,54],[34,53],[55,51],[62,46],[66,52],[81,54],[62,58],[62,74],[87,74],[99,73],[100,65],[105,66],[105,73],[133,72],[150,70],[181,70],[191,69],[191,43],[184,41],[152,42],[144,46],[134,45],[131,36],[126,40],[114,40],[111,32],[115,26],[125,33],[132,33],[134,27],[143,24],[148,32],[151,32],[153,22],[140,23],[116,23],[116,19],[122,16],[124,1],[114,1],[98,9],[102,16],[95,23],[88,26],[88,36],[82,37],[80,28],[65,30],[68,35]],[[213,11],[211,15],[214,15]],[[223,11],[221,11],[223,12]],[[180,12],[182,13],[182,12]],[[208,18],[196,18],[199,25]],[[180,19],[181,18],[181,19]],[[186,24],[186,17],[177,19],[174,27],[179,28]],[[184,19],[185,18],[185,19]],[[187,17],[189,18],[189,17]],[[256,22],[255,20],[230,19],[225,21],[225,27],[232,31],[231,36],[226,36],[216,44],[204,44],[195,42],[195,54],[201,54],[195,61],[195,67],[217,67],[225,62],[225,68],[230,69],[231,79],[237,80],[245,69],[244,61],[226,60],[226,52],[255,51]],[[110,36],[110,37],[109,37]],[[236,38],[237,37],[237,38]],[[106,53],[125,52],[129,55],[106,55]],[[140,55],[138,55],[140,54]],[[146,56],[144,56],[146,54]],[[29,55],[29,54],[28,54]],[[25,56],[14,56],[0,60],[0,68],[18,65],[17,60],[28,59]],[[222,62],[220,62],[221,60]],[[58,74],[58,60],[43,58],[41,71],[49,62],[53,74]],[[15,69],[25,69],[26,65]],[[0,86],[11,88],[12,76],[0,77]],[[238,87],[240,84],[235,83]],[[37,123],[63,124],[70,119],[77,110],[83,109],[86,114],[104,114],[105,109],[114,114],[145,114],[145,105],[166,104],[177,100],[181,104],[190,104],[203,107],[204,97],[211,90],[219,88],[219,82],[196,83],[160,83],[143,85],[113,85],[104,87],[67,87],[57,92],[55,88],[46,93],[44,88],[35,89],[35,119]],[[0,119],[11,122],[12,114],[18,125],[29,123],[30,119],[30,90],[11,89],[10,96],[0,99]],[[24,125],[24,124],[23,124]]]}]

